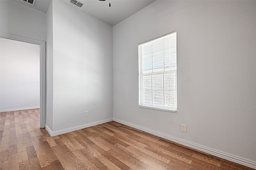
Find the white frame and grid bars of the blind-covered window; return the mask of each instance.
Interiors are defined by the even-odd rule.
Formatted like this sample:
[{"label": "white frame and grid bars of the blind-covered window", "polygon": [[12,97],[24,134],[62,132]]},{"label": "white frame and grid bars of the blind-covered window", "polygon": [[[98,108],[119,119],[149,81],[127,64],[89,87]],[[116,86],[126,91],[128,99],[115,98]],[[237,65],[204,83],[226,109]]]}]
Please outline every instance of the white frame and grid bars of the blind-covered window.
[{"label": "white frame and grid bars of the blind-covered window", "polygon": [[[142,56],[142,50],[141,50],[141,48],[142,47],[140,47],[141,45],[143,45],[143,44],[146,44],[146,43],[149,43],[149,42],[151,42],[151,41],[155,41],[155,40],[158,40],[158,39],[161,39],[162,37],[166,37],[166,36],[168,36],[168,35],[172,35],[173,33],[175,33],[175,35],[176,35],[176,37],[175,37],[175,47],[176,47],[176,49],[175,49],[175,62],[174,62],[174,64],[175,64],[175,68],[174,69],[172,69],[172,70],[168,70],[168,71],[159,71],[159,72],[154,72],[153,71],[153,67],[152,67],[152,72],[151,73],[145,73],[145,72],[143,72],[142,70],[143,70],[143,68],[142,68],[142,66],[143,66],[143,64],[144,63],[142,63],[142,58],[143,58],[143,56]],[[153,51],[153,50],[152,50]],[[171,55],[171,54],[170,54]],[[170,57],[170,55],[169,55],[169,57]],[[145,57],[145,56],[144,56]],[[152,56],[153,57],[153,56]],[[171,58],[171,57],[170,57]],[[144,58],[145,59],[145,58]],[[145,41],[145,42],[143,42],[143,43],[140,43],[140,44],[138,44],[138,60],[139,60],[139,63],[138,63],[138,66],[139,66],[139,72],[138,72],[138,77],[139,77],[139,107],[140,108],[146,108],[146,109],[154,109],[154,110],[161,110],[161,111],[169,111],[169,112],[176,112],[177,111],[177,31],[172,31],[172,32],[170,32],[170,33],[167,33],[167,34],[164,34],[164,35],[161,35],[161,36],[159,36],[159,37],[156,37],[156,38],[154,38],[154,39],[150,39],[150,40],[148,40],[148,41]],[[152,62],[153,63],[153,62]],[[172,62],[173,63],[173,62]],[[165,69],[165,65],[164,65],[164,69]],[[145,104],[145,102],[144,101],[142,101],[143,99],[142,99],[142,93],[144,92],[143,90],[144,90],[144,86],[143,86],[143,76],[145,76],[145,74],[146,75],[154,75],[154,74],[166,74],[166,73],[169,73],[169,74],[175,74],[175,78],[174,78],[174,80],[175,80],[175,94],[174,95],[172,95],[173,96],[173,98],[174,98],[174,100],[175,100],[175,108],[174,107],[166,107],[166,106],[160,106],[160,107],[157,107],[156,106],[156,104],[155,105],[151,105],[150,106],[150,104]],[[151,79],[151,81],[153,81],[153,79]],[[164,78],[163,78],[163,81],[164,81]],[[164,88],[164,82],[163,82],[163,86],[162,86],[163,88]],[[152,88],[152,85],[151,85],[151,91],[153,90],[153,88]],[[164,92],[165,90],[163,89],[163,97],[164,97]],[[151,92],[151,94],[153,95],[153,92]],[[153,100],[153,97],[152,97],[152,100]],[[144,102],[144,103],[143,103]],[[153,101],[152,101],[153,102]]]}]

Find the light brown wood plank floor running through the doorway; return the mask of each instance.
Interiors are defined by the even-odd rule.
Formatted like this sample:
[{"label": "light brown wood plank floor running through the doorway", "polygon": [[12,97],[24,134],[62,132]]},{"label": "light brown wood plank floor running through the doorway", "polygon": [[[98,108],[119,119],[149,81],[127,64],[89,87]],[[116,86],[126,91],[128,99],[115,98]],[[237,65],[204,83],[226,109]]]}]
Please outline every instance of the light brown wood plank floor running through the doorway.
[{"label": "light brown wood plank floor running through the doorway", "polygon": [[114,121],[50,137],[39,109],[0,113],[0,170],[252,170]]}]

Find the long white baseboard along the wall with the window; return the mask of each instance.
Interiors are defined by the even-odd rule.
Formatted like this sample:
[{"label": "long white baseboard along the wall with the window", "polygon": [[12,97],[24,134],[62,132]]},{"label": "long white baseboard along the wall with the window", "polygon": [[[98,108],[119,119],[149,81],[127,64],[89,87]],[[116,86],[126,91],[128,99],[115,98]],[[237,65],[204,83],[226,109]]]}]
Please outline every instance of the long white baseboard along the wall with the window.
[{"label": "long white baseboard along the wall with the window", "polygon": [[168,139],[169,141],[176,142],[176,143],[184,145],[186,147],[190,147],[190,148],[193,148],[193,149],[196,149],[196,150],[200,150],[202,152],[206,152],[208,154],[211,154],[211,155],[214,155],[214,156],[218,156],[219,158],[230,160],[232,162],[236,162],[238,164],[241,164],[241,165],[248,166],[250,168],[256,169],[256,162],[254,162],[252,160],[247,160],[247,159],[241,158],[239,156],[235,156],[235,155],[232,155],[232,154],[221,152],[219,150],[211,149],[211,148],[208,148],[208,147],[205,147],[205,146],[201,146],[201,145],[189,142],[189,141],[184,141],[182,139],[178,139],[178,138],[172,137],[170,135],[166,135],[166,134],[163,134],[163,133],[159,133],[157,131],[153,131],[151,129],[147,129],[147,128],[144,128],[144,127],[141,127],[141,126],[138,126],[138,125],[134,125],[132,123],[128,123],[128,122],[122,121],[120,119],[114,118],[113,121],[116,121],[116,122],[121,123],[123,125],[127,125],[127,126],[135,128],[135,129],[138,129],[138,130],[150,133],[150,134],[158,136],[158,137],[162,137],[164,139]]}]

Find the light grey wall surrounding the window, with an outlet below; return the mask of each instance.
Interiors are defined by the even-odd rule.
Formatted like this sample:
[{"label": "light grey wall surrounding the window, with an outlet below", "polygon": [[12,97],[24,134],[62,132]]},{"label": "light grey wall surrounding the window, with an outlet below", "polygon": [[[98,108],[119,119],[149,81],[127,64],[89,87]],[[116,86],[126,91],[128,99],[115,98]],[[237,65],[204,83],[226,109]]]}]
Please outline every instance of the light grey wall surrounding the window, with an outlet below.
[{"label": "light grey wall surrounding the window, with an outlet below", "polygon": [[[139,108],[138,44],[175,30],[178,111]],[[255,30],[256,1],[155,1],[118,23],[114,119],[256,165]]]}]

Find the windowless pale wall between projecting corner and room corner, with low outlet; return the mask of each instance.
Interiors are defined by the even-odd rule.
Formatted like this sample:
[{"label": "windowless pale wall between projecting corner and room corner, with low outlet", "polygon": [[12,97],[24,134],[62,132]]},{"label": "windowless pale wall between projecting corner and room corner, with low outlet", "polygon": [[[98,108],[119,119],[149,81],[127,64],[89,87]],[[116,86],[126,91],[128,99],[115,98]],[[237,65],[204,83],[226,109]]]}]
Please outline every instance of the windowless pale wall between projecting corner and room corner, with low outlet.
[{"label": "windowless pale wall between projecting corner and room corner, with low outlet", "polygon": [[112,118],[112,26],[60,1],[52,9],[53,133]]}]

